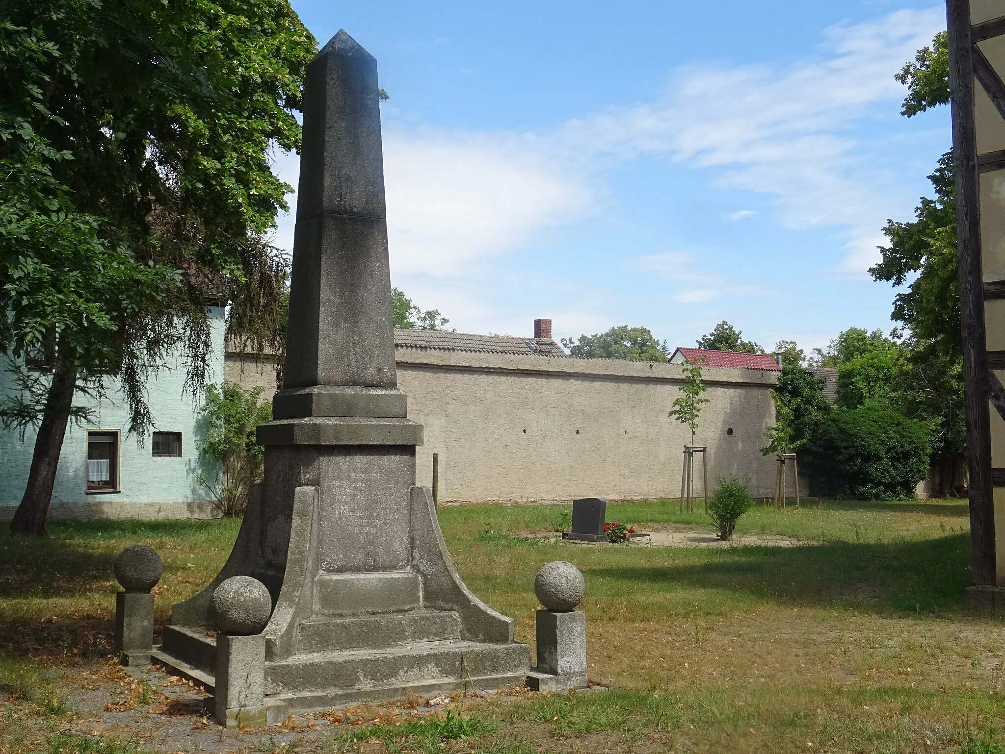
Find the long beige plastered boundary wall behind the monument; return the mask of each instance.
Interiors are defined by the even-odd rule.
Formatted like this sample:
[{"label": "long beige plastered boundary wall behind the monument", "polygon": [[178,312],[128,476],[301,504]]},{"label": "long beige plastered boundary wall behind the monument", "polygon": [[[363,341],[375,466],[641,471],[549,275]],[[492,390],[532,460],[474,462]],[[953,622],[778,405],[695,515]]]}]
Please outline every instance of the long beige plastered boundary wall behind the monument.
[{"label": "long beige plastered boundary wall behind the monument", "polygon": [[[431,484],[439,453],[441,503],[680,494],[690,437],[667,412],[680,395],[681,366],[401,347],[396,360],[408,415],[425,428],[418,483]],[[265,396],[275,389],[268,357],[230,354],[225,375]],[[709,446],[710,487],[736,473],[758,496],[772,496],[775,462],[760,448],[774,423],[778,372],[709,366],[705,378],[710,403],[695,440]]]}]

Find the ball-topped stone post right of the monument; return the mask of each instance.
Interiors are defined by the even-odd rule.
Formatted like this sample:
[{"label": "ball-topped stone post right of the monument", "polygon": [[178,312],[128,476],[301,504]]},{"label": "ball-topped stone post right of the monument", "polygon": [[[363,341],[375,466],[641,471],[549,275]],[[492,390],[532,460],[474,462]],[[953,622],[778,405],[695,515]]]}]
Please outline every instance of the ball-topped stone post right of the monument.
[{"label": "ball-topped stone post right of the monument", "polygon": [[575,609],[586,591],[583,574],[572,563],[556,560],[538,571],[534,590],[547,609],[537,612],[538,666],[527,676],[528,687],[586,688],[586,613]]}]

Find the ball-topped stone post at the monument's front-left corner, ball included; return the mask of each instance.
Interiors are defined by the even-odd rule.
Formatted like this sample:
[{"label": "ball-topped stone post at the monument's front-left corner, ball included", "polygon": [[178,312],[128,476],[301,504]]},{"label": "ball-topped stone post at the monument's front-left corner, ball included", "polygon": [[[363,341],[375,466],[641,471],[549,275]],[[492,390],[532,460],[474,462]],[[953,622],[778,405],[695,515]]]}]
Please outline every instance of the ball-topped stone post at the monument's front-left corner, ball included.
[{"label": "ball-topped stone post at the monument's front-left corner, ball included", "polygon": [[265,585],[251,576],[224,580],[210,603],[216,636],[213,701],[216,721],[227,728],[263,728],[265,713],[265,637],[272,612]]}]

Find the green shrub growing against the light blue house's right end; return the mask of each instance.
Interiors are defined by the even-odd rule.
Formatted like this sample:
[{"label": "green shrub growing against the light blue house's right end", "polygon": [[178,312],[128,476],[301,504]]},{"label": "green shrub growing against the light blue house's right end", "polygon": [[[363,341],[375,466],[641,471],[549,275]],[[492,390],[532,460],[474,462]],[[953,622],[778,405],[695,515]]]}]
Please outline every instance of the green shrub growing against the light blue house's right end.
[{"label": "green shrub growing against the light blue house's right end", "polygon": [[255,442],[255,428],[272,419],[272,406],[261,404],[262,389],[245,390],[225,382],[206,389],[200,412],[203,439],[197,444],[199,458],[217,473],[200,481],[213,493],[225,516],[239,516],[247,507],[251,485],[260,482],[265,449]]}]

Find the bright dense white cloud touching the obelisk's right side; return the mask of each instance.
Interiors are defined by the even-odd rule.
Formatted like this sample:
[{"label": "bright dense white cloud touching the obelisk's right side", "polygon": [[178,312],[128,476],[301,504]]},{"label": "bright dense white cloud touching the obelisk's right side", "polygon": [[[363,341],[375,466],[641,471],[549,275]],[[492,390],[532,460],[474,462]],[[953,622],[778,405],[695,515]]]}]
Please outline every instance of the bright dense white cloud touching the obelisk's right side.
[{"label": "bright dense white cloud touching the obelisk's right side", "polygon": [[450,276],[595,206],[578,169],[527,135],[400,128],[384,139],[391,263]]}]

